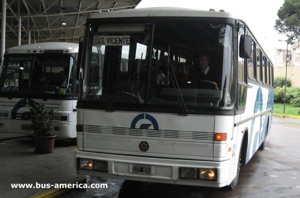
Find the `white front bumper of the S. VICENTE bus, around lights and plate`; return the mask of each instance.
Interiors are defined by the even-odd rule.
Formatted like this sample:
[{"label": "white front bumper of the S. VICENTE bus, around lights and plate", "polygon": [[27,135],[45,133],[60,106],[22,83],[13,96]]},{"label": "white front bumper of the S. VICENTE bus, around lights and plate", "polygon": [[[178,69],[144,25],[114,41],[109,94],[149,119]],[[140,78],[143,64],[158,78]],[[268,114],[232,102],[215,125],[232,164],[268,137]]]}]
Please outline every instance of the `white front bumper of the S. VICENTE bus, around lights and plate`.
[{"label": "white front bumper of the S. VICENTE bus, around lights and plate", "polygon": [[[80,169],[79,159],[101,160],[107,161],[107,172],[95,170]],[[100,177],[171,183],[181,185],[195,185],[208,187],[222,187],[229,184],[229,160],[225,161],[199,161],[199,160],[184,160],[184,159],[168,159],[155,157],[139,157],[106,153],[94,153],[86,151],[76,151],[75,162],[77,171],[82,175],[93,175]],[[134,173],[132,166],[135,164],[151,167],[151,173]],[[204,179],[187,179],[179,177],[179,168],[211,168],[216,170],[215,180]]]}]

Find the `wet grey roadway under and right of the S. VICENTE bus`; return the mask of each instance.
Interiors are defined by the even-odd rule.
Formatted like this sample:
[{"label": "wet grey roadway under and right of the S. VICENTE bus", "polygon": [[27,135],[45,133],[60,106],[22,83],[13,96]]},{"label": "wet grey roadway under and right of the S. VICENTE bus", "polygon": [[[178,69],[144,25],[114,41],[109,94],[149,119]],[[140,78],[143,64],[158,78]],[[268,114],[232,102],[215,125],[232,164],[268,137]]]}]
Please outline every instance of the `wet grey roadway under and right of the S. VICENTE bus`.
[{"label": "wet grey roadway under and right of the S. VICENTE bus", "polygon": [[300,197],[300,120],[273,118],[266,148],[241,168],[234,190],[87,176],[108,188],[73,190],[63,197]]}]

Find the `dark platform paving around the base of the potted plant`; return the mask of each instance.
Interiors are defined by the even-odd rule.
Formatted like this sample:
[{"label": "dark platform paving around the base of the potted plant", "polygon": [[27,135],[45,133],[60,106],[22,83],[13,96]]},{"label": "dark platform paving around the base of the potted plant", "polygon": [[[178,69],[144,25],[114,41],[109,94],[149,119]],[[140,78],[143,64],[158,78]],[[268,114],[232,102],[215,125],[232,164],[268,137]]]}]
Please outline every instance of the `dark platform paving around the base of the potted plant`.
[{"label": "dark platform paving around the base of the potted plant", "polygon": [[[35,154],[31,137],[12,138],[0,134],[0,197],[26,197],[43,191],[41,188],[12,189],[11,183],[54,184],[77,177],[75,146],[58,140],[54,152]],[[19,136],[18,136],[19,137]]]}]

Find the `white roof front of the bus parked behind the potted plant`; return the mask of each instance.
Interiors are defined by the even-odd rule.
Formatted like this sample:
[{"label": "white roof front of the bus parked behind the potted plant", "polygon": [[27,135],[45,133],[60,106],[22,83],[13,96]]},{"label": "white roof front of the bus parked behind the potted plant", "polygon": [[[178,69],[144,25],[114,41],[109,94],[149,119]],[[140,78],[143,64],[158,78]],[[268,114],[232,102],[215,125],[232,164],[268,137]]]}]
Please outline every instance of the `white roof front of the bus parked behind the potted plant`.
[{"label": "white roof front of the bus parked behind the potted plant", "polygon": [[[48,42],[48,43],[34,43],[28,45],[21,45],[9,48],[5,51],[6,54],[27,54],[33,53],[37,50],[37,54],[43,53],[44,50],[63,50],[63,53],[77,53],[78,44],[63,43],[63,42]],[[42,52],[40,52],[42,51]]]}]

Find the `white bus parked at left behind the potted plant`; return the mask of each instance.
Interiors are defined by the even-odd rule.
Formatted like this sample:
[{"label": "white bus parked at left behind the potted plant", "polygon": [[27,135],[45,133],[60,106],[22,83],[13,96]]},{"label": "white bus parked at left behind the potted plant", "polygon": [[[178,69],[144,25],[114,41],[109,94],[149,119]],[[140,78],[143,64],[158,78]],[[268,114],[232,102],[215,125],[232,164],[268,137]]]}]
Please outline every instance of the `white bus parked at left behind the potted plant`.
[{"label": "white bus parked at left behind the potted plant", "polygon": [[29,108],[53,108],[53,134],[76,137],[78,44],[37,43],[6,50],[0,77],[0,132],[31,135]]}]

